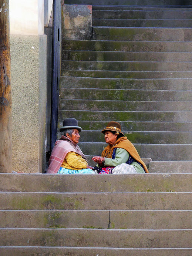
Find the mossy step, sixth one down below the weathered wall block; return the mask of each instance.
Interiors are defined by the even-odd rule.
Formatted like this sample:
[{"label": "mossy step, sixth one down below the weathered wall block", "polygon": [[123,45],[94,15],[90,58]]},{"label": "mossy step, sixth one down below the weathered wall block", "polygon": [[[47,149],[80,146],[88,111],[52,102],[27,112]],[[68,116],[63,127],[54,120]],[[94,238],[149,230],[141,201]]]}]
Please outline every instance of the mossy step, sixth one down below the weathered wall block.
[{"label": "mossy step, sixth one down below the weathered wall block", "polygon": [[[191,101],[192,91],[60,88],[60,99],[107,101]],[[92,103],[94,104],[94,102]]]}]

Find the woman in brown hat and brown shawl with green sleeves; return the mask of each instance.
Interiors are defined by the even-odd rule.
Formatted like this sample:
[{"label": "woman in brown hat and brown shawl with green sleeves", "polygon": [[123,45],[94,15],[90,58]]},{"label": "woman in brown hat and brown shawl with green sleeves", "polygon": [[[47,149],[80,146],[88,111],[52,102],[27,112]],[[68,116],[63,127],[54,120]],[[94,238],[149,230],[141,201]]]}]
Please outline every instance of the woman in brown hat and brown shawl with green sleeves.
[{"label": "woman in brown hat and brown shawl with green sleeves", "polygon": [[104,148],[101,156],[92,158],[93,161],[97,162],[94,169],[98,173],[132,174],[148,172],[136,148],[122,133],[121,125],[118,122],[109,122],[106,129],[101,132],[105,134],[105,142],[109,145]]}]

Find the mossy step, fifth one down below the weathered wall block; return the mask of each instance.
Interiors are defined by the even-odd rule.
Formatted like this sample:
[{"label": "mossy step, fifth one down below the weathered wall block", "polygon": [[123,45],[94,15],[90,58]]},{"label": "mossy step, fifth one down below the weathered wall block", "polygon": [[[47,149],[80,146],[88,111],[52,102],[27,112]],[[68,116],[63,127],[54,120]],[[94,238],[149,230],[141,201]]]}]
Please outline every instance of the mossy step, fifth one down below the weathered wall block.
[{"label": "mossy step, fifth one down below the weathered wall block", "polygon": [[60,77],[60,88],[100,88],[137,90],[191,90],[192,78],[124,79]]}]

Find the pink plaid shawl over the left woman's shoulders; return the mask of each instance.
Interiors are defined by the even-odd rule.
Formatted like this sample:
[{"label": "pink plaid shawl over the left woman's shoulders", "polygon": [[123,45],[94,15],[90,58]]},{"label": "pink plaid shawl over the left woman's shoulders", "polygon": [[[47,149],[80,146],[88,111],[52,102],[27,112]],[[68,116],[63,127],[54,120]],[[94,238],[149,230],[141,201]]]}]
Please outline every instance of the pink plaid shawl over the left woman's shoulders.
[{"label": "pink plaid shawl over the left woman's shoulders", "polygon": [[84,154],[82,153],[80,147],[75,145],[71,139],[61,136],[61,138],[55,142],[55,146],[51,152],[51,156],[48,162],[47,174],[56,174],[65,159],[68,152],[75,152],[81,155],[86,161]]}]

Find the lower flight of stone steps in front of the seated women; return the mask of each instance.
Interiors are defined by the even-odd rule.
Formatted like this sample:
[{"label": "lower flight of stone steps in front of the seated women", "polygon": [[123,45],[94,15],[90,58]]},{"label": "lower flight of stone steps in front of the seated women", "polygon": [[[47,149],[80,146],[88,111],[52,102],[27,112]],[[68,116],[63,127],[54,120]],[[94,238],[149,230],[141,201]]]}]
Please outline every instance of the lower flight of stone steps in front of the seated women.
[{"label": "lower flight of stone steps in front of the seated women", "polygon": [[0,174],[1,256],[190,256],[192,174]]}]

